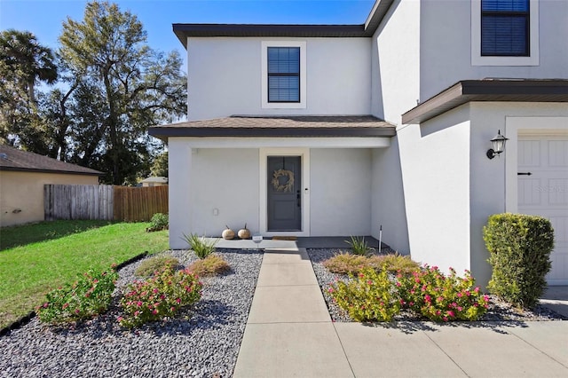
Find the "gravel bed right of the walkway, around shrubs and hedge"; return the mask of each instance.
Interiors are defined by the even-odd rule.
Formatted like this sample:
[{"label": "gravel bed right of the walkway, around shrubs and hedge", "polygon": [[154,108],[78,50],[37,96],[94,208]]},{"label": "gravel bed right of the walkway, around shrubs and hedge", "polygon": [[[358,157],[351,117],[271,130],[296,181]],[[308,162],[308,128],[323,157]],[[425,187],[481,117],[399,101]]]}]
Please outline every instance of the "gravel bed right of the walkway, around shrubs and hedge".
[{"label": "gravel bed right of the walkway, around shrubs and hedge", "polygon": [[[336,280],[345,280],[346,276],[343,274],[336,274],[329,272],[324,266],[323,261],[327,260],[342,250],[340,249],[308,249],[308,255],[312,260],[313,272],[316,273],[316,278],[318,279],[319,287],[326,300],[327,309],[331,315],[333,321],[339,322],[351,322],[353,321],[347,312],[343,311],[339,306],[337,306],[331,295],[327,292],[329,285],[334,283]],[[385,251],[385,253],[390,253],[391,251]],[[533,311],[519,310],[510,306],[508,303],[500,301],[494,295],[490,295],[491,304],[489,310],[485,312],[482,317],[482,321],[533,321],[533,320],[563,320],[562,315],[556,313],[555,311],[549,310],[547,307],[538,304]],[[420,316],[416,316],[410,311],[401,311],[399,315],[395,317],[395,320],[426,320]]]}]

